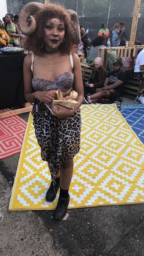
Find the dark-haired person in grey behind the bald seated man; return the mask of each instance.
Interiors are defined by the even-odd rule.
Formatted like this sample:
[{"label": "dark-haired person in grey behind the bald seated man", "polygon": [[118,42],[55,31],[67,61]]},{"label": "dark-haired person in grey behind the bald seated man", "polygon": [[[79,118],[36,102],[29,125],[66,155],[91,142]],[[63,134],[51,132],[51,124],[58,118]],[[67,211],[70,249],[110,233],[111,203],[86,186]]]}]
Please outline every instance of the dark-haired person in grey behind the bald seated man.
[{"label": "dark-haired person in grey behind the bald seated man", "polygon": [[92,41],[92,46],[90,48],[90,53],[87,57],[87,62],[91,63],[96,57],[98,57],[98,49],[99,48],[106,48],[104,45],[104,38],[103,37],[96,37]]}]

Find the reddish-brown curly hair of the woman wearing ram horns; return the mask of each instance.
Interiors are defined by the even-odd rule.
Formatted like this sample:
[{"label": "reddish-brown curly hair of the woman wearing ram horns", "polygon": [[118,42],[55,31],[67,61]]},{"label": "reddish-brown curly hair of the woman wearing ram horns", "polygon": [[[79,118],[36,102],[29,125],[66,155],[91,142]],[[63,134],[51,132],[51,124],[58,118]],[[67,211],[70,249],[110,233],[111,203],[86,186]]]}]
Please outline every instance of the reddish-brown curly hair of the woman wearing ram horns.
[{"label": "reddish-brown curly hair of the woman wearing ram horns", "polygon": [[38,12],[35,16],[37,27],[35,32],[26,38],[23,45],[24,48],[34,51],[34,53],[38,55],[45,53],[45,44],[43,40],[44,27],[46,22],[51,18],[59,18],[59,20],[63,21],[65,26],[65,37],[62,44],[59,45],[59,50],[61,53],[70,54],[74,38],[73,24],[67,10],[58,4],[47,4],[40,10],[40,12]]}]

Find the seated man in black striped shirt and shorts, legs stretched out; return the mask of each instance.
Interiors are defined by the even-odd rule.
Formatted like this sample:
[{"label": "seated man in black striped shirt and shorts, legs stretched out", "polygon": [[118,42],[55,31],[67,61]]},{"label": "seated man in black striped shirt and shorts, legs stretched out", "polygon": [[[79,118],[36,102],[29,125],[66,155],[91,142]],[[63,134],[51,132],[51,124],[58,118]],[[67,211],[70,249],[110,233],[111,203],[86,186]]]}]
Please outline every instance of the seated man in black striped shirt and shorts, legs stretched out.
[{"label": "seated man in black striped shirt and shorts, legs stretched out", "polygon": [[110,101],[115,101],[121,97],[123,93],[124,81],[126,76],[122,71],[123,64],[121,60],[116,60],[113,63],[113,71],[110,72],[104,81],[104,87],[97,89],[96,93],[86,95],[84,100],[87,104],[92,104],[100,98],[108,98]]}]

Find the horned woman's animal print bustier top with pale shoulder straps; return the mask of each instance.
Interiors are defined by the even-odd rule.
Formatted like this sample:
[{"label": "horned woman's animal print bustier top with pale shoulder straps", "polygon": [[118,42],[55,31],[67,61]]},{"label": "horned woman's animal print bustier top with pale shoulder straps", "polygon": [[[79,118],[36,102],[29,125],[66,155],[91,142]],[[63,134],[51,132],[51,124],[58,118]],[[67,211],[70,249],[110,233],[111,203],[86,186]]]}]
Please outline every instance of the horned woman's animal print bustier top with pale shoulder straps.
[{"label": "horned woman's animal print bustier top with pale shoulder straps", "polygon": [[[31,70],[33,71],[34,53],[31,53],[32,64]],[[73,57],[70,54],[71,68],[73,68]],[[49,81],[43,78],[33,78],[32,87],[37,90],[57,90],[60,89],[63,92],[67,92],[70,88],[73,88],[74,74],[73,72],[65,72],[57,76],[54,81]]]}]

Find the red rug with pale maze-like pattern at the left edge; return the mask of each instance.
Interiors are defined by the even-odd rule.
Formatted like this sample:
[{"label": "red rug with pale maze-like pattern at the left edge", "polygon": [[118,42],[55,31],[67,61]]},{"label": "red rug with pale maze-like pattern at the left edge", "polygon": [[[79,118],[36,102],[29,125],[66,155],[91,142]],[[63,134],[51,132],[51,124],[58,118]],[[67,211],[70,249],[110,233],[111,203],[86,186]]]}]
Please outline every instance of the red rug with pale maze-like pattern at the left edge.
[{"label": "red rug with pale maze-like pattern at the left edge", "polygon": [[26,124],[18,115],[0,119],[0,159],[20,153]]}]

